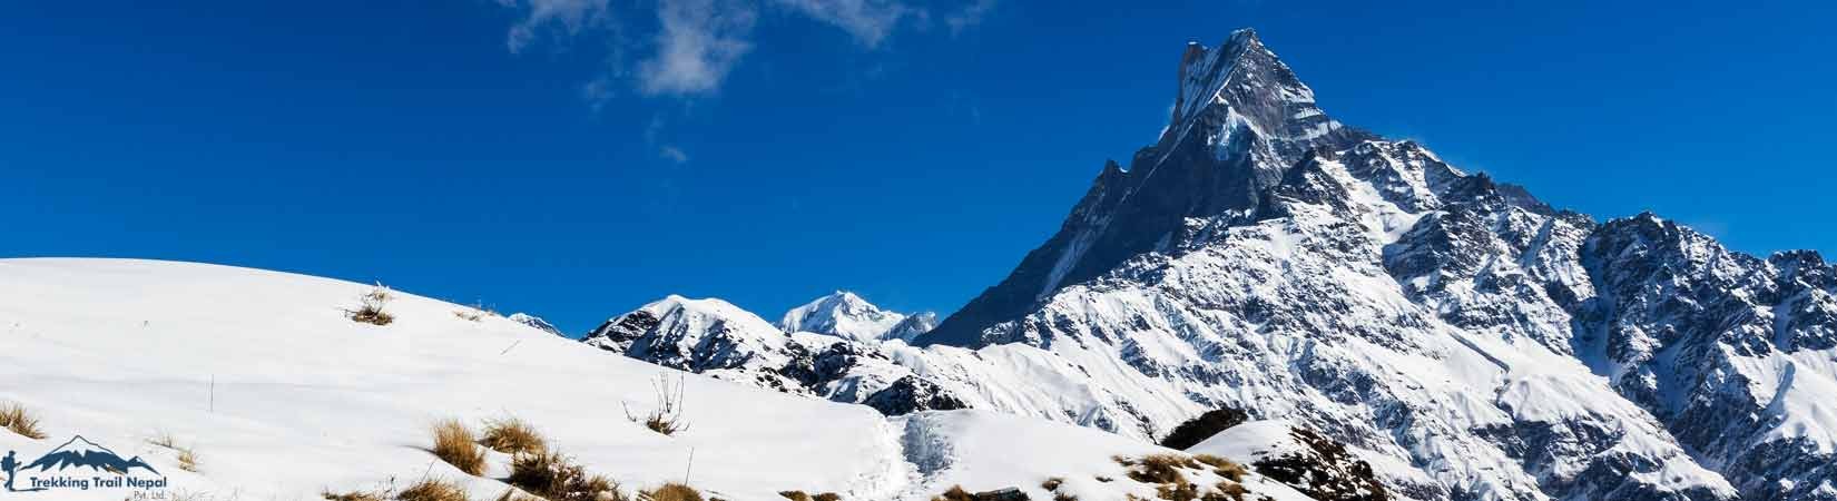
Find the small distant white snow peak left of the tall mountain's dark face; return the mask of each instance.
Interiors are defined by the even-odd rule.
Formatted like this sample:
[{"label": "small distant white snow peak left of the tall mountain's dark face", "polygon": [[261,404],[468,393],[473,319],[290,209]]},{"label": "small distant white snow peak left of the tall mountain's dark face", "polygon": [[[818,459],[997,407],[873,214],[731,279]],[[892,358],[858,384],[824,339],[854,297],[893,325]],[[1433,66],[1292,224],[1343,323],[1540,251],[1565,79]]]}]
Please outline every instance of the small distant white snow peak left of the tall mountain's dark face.
[{"label": "small distant white snow peak left of the tall mountain's dark face", "polygon": [[784,312],[779,328],[876,341],[885,338],[911,340],[935,325],[935,316],[917,323],[906,323],[906,314],[882,310],[854,292],[838,290]]}]

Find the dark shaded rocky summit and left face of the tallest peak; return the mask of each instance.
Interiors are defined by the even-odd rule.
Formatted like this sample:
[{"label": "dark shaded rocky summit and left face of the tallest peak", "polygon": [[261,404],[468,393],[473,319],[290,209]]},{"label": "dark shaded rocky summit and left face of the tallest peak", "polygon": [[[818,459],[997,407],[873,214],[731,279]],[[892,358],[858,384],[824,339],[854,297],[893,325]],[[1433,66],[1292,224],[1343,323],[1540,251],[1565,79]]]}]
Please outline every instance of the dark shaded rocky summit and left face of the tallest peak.
[{"label": "dark shaded rocky summit and left face of the tallest peak", "polygon": [[996,323],[1032,312],[1062,286],[1165,248],[1189,218],[1253,209],[1288,165],[1372,136],[1347,128],[1249,29],[1218,50],[1189,44],[1179,61],[1172,121],[1130,169],[1104,165],[1071,217],[1007,279],[944,319],[918,343],[983,345]]}]

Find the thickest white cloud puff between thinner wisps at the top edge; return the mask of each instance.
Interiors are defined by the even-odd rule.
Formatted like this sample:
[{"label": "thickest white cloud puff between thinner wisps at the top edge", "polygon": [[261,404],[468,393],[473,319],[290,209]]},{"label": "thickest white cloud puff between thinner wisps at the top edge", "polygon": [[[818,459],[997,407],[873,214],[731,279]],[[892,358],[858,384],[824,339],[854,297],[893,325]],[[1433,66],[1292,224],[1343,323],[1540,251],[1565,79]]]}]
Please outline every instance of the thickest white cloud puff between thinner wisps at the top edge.
[{"label": "thickest white cloud puff between thinner wisps at the top edge", "polygon": [[637,62],[637,90],[647,95],[691,95],[720,88],[727,72],[753,50],[759,11],[746,0],[661,0],[656,53]]}]

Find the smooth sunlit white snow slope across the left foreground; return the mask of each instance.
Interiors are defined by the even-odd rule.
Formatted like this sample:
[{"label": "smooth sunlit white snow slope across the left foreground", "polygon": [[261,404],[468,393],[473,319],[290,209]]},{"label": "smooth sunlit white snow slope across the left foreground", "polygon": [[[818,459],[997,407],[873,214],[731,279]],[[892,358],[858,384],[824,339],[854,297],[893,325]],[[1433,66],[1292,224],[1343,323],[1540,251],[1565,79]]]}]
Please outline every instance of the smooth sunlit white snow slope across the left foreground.
[{"label": "smooth sunlit white snow slope across the left foreground", "polygon": [[[1111,455],[1168,451],[975,411],[885,418],[694,374],[683,376],[689,429],[665,437],[625,411],[650,409],[650,382],[671,369],[505,317],[468,321],[454,314],[463,306],[411,294],[395,294],[386,306],[395,316],[389,325],[347,319],[344,310],[369,290],[187,262],[0,261],[0,400],[31,409],[48,435],[0,429],[0,450],[29,461],[81,435],[96,450],[143,459],[171,481],[165,495],[193,495],[186,499],[318,499],[428,475],[461,483],[472,499],[503,494],[496,479],[507,473],[505,455],[490,453],[485,475],[472,477],[426,451],[428,429],[441,418],[518,417],[626,492],[687,475],[724,499],[781,499],[781,490],[930,499],[952,484],[1018,486],[1049,499],[1040,484],[1053,475],[1078,479],[1065,492],[1082,499],[1121,499],[1152,495],[1154,486],[1128,481]],[[682,299],[656,308],[658,317],[696,327],[711,327],[700,321],[720,310]],[[163,437],[197,453],[197,472],[180,470],[176,451],[154,444]],[[1097,475],[1115,481],[1089,481]],[[1304,499],[1260,475],[1245,484]]]}]

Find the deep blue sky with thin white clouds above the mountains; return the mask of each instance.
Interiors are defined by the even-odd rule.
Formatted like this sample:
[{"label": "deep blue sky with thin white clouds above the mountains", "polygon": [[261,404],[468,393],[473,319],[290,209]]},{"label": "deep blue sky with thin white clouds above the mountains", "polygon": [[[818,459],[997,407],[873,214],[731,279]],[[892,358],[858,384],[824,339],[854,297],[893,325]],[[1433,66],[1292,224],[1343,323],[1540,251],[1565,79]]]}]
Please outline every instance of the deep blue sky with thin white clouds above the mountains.
[{"label": "deep blue sky with thin white clouds above the mountains", "polygon": [[1828,2],[1468,4],[24,2],[0,255],[384,281],[569,332],[672,292],[950,312],[1154,139],[1189,39],[1244,26],[1337,119],[1556,206],[1837,251]]}]

